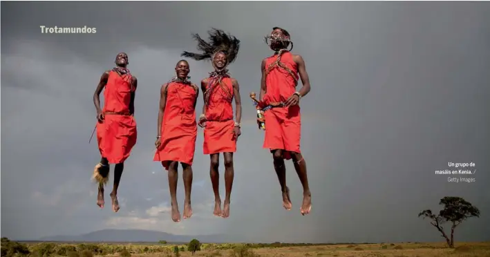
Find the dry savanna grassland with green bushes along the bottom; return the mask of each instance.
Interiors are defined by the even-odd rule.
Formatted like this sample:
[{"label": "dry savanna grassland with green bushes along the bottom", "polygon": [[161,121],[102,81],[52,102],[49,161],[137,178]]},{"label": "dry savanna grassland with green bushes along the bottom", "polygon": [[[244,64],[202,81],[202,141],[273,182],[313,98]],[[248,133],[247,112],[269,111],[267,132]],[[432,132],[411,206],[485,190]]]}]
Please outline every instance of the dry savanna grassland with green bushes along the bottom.
[{"label": "dry savanna grassland with green bushes along the bottom", "polygon": [[[190,244],[189,244],[190,245]],[[1,256],[68,257],[490,257],[490,242],[461,242],[451,249],[441,243],[382,244],[199,244],[19,243],[2,239]]]}]

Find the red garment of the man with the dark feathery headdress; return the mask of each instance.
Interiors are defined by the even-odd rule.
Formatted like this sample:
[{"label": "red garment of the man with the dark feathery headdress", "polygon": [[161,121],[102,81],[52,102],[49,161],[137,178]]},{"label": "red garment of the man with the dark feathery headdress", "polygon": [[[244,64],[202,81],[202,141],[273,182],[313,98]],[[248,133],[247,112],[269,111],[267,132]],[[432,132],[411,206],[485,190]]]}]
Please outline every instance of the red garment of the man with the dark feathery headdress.
[{"label": "red garment of the man with the dark feathery headdress", "polygon": [[[204,154],[234,153],[236,139],[233,135],[235,122],[233,120],[232,100],[234,97],[233,82],[229,77],[223,77],[221,84],[210,82],[206,90],[211,88],[211,94],[206,106],[206,127],[204,129]],[[211,85],[211,83],[214,83]]]}]

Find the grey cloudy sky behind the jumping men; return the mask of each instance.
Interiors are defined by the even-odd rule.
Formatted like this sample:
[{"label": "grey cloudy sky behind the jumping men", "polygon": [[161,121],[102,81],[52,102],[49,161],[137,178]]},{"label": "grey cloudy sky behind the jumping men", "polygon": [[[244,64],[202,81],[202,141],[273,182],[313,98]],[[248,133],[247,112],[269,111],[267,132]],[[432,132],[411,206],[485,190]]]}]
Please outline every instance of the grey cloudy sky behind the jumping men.
[{"label": "grey cloudy sky behind the jumping men", "polygon": [[[97,32],[42,34],[43,25]],[[274,26],[291,33],[312,84],[301,100],[309,216],[300,214],[292,163],[293,209],[283,209],[247,96],[258,91],[261,59],[272,54],[263,36]],[[167,174],[153,162],[158,92],[182,50],[195,50],[191,33],[211,27],[241,40],[229,66],[243,99],[231,216],[212,216],[199,133],[194,216],[176,224]],[[489,3],[2,2],[1,39],[1,236],[133,228],[267,241],[440,240],[417,213],[461,196],[482,217],[461,225],[456,240],[490,240]],[[122,208],[113,213],[95,204],[90,178],[100,155],[88,139],[95,86],[121,51],[139,79],[138,144],[126,161]],[[189,63],[194,82],[211,71],[207,62]],[[448,162],[474,162],[475,182],[434,174]],[[181,179],[179,187],[183,202]],[[224,196],[224,182],[220,187]]]}]

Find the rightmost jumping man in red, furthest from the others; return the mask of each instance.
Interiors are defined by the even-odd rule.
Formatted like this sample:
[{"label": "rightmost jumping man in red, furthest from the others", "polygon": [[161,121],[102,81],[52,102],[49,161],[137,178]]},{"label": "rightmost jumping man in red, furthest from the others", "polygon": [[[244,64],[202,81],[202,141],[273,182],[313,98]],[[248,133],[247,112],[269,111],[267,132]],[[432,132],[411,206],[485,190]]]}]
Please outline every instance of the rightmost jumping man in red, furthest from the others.
[{"label": "rightmost jumping man in red, furthest from the others", "polygon": [[[303,204],[301,214],[311,211],[311,192],[308,186],[306,162],[300,151],[301,115],[299,100],[310,92],[310,79],[305,68],[305,61],[301,55],[293,55],[288,50],[292,41],[290,34],[283,28],[272,28],[266,37],[270,39],[270,48],[274,55],[263,59],[261,64],[262,79],[260,106],[265,111],[265,139],[263,148],[270,149],[274,159],[279,184],[283,195],[283,207],[290,210],[292,207],[290,192],[286,186],[284,159],[292,159],[294,169],[303,185]],[[267,41],[266,39],[266,41]],[[303,87],[296,91],[298,74]]]}]

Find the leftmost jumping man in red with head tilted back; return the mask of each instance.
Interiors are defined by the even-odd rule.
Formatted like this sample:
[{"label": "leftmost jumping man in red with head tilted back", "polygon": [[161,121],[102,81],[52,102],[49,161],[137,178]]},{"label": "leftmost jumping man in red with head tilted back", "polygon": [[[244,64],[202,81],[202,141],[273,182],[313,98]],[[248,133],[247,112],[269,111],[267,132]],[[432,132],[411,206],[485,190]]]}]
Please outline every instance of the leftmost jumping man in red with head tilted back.
[{"label": "leftmost jumping man in red with head tilted back", "polygon": [[[100,163],[95,165],[93,178],[99,184],[97,205],[104,208],[104,185],[109,181],[109,164],[115,164],[114,186],[111,192],[112,209],[119,211],[117,188],[121,180],[124,161],[129,158],[136,144],[137,131],[134,115],[135,91],[138,80],[126,68],[129,58],[119,53],[115,58],[115,68],[100,77],[93,94],[93,104],[97,111],[97,142]],[[105,88],[105,90],[104,90]],[[100,93],[104,90],[104,108],[100,108]]]}]

